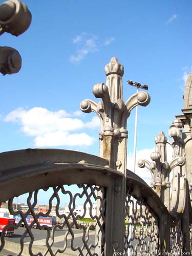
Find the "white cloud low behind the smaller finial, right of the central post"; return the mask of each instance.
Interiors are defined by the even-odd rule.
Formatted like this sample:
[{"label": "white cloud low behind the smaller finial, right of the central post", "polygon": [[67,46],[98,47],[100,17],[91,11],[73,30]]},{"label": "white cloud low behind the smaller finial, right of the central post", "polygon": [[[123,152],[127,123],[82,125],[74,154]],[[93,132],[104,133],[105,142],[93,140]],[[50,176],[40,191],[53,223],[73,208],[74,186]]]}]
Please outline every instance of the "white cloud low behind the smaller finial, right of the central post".
[{"label": "white cloud low behind the smaller finial, right of the central post", "polygon": [[[167,145],[167,161],[170,162],[172,160],[172,147]],[[137,163],[139,160],[148,160],[152,162],[151,159],[151,154],[155,152],[155,147],[154,148],[145,148],[143,150],[137,151],[136,154],[136,168],[135,168],[135,173],[142,178],[148,185],[151,185],[152,181],[152,176],[150,170],[147,168],[140,168]],[[127,155],[127,169],[134,171],[134,158],[133,158],[133,153],[130,153]]]}]

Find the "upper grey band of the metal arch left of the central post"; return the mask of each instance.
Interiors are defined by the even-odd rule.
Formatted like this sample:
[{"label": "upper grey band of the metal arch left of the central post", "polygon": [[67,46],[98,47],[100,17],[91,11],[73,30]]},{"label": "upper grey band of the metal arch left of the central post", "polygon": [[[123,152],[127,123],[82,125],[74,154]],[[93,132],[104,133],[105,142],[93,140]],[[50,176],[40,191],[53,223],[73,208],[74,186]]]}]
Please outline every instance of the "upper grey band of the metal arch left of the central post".
[{"label": "upper grey band of the metal arch left of the central post", "polygon": [[103,158],[72,150],[27,148],[3,152],[0,154],[0,172],[6,169],[20,168],[28,165],[40,165],[46,163],[89,163],[97,165],[108,165],[108,160]]}]

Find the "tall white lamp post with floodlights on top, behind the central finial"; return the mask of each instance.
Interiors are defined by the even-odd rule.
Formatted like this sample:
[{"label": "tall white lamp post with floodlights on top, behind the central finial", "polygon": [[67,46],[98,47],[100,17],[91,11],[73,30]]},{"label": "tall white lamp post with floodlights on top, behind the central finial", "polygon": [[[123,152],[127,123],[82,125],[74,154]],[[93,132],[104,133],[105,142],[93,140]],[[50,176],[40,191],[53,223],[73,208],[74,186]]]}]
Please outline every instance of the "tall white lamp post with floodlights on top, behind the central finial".
[{"label": "tall white lamp post with floodlights on top, behind the central finial", "polygon": [[[127,83],[130,86],[134,86],[137,88],[137,93],[139,92],[139,88],[143,90],[148,90],[148,86],[146,84],[141,85],[139,82],[133,82],[132,80],[128,80]],[[137,121],[138,121],[138,105],[136,106],[135,110],[135,134],[134,134],[134,148],[133,148],[133,159],[134,159],[134,173],[135,173],[135,168],[136,168],[136,150],[137,150]],[[130,205],[130,216],[133,215],[133,205]],[[129,222],[132,222],[132,218],[130,217]],[[132,224],[130,225],[129,228],[129,239],[132,238]],[[131,243],[130,243],[131,245]],[[131,248],[128,249],[128,255],[131,256]]]}]

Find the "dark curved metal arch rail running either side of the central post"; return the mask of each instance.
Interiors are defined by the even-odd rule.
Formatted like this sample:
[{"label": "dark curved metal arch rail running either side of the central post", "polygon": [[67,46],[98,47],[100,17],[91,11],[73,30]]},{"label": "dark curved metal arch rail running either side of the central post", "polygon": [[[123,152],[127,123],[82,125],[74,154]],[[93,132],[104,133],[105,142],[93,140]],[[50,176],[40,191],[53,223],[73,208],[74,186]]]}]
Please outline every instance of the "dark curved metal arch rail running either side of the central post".
[{"label": "dark curved metal arch rail running either side of the central post", "polygon": [[[0,154],[0,201],[38,189],[58,185],[90,184],[109,187],[123,174],[108,167],[108,160],[67,150],[28,149]],[[153,189],[139,176],[127,170],[127,186],[132,194],[160,217],[168,211]],[[161,210],[159,210],[161,209]]]}]

